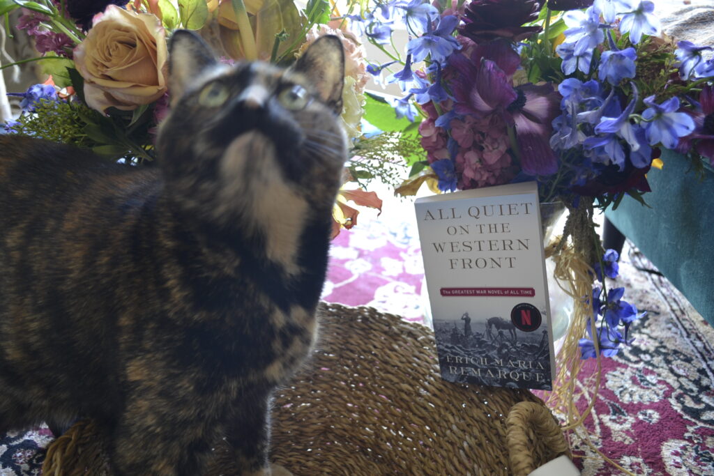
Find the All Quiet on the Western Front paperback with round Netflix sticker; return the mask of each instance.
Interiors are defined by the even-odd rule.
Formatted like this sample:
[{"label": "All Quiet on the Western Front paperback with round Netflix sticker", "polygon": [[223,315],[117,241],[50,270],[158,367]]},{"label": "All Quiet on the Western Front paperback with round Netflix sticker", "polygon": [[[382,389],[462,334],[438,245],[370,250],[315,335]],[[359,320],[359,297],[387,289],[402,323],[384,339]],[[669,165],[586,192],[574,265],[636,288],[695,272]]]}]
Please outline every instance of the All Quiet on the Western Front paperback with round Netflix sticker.
[{"label": "All Quiet on the Western Front paperback with round Netflix sticker", "polygon": [[415,207],[442,378],[552,390],[536,183],[418,198]]}]

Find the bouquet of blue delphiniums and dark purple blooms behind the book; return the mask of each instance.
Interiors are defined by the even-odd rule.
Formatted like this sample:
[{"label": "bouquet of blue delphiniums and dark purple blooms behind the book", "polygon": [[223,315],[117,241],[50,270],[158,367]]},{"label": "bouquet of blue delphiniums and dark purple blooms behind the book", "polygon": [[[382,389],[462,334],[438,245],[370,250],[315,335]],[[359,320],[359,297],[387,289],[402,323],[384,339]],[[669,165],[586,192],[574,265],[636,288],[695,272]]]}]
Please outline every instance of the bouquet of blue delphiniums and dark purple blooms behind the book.
[{"label": "bouquet of blue delphiniums and dark purple blooms behind the book", "polygon": [[[608,289],[618,256],[602,248],[594,209],[625,196],[644,203],[663,148],[688,154],[695,168],[714,161],[712,46],[660,35],[654,7],[391,0],[347,16],[387,56],[368,71],[401,88],[397,116],[419,121],[426,157],[411,161],[398,193],[535,180],[541,203],[568,208],[553,247],[556,275],[576,303],[558,356],[563,399],[551,396],[562,407],[573,401],[580,359],[615,355],[641,316],[623,288]],[[404,29],[406,47],[396,49]]]}]

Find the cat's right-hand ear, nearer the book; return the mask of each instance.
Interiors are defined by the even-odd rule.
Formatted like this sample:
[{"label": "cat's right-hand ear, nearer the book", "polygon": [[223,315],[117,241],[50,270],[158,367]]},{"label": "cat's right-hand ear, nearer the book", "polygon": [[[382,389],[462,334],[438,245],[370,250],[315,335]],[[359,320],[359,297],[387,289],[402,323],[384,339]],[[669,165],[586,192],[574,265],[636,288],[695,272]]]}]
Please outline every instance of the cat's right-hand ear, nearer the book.
[{"label": "cat's right-hand ear, nearer the book", "polygon": [[335,113],[342,113],[342,86],[345,82],[345,53],[337,36],[326,35],[311,44],[292,67],[314,84],[322,100]]}]

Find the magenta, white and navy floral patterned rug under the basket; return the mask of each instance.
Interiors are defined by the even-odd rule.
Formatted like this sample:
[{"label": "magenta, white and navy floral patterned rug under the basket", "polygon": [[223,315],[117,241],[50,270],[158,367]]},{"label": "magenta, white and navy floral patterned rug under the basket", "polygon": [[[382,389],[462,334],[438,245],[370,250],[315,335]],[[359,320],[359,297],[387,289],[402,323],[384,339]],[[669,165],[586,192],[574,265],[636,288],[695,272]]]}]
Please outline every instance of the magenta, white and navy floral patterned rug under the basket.
[{"label": "magenta, white and navy floral patterned rug under the basket", "polygon": [[[412,217],[411,206],[385,209],[343,231],[323,299],[421,322],[423,264]],[[633,348],[605,360],[587,422],[593,442],[636,475],[714,475],[714,329],[637,250],[626,248],[620,270],[625,299],[648,315],[633,327]],[[39,475],[51,440],[46,427],[0,437],[0,476]],[[583,475],[620,474],[587,448],[574,450],[585,456],[576,460]]]}]

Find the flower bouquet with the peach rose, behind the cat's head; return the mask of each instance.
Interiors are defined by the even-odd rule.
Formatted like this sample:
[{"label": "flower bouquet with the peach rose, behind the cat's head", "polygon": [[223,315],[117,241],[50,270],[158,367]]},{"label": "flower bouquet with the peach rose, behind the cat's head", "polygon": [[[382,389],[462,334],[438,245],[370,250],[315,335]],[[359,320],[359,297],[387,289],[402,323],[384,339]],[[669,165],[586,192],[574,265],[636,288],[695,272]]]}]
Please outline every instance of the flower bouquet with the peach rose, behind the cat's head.
[{"label": "flower bouquet with the peach rose, behind the cat's head", "polygon": [[[21,114],[5,118],[3,132],[72,143],[129,166],[150,165],[171,98],[166,40],[172,31],[197,31],[229,64],[259,59],[281,66],[295,61],[318,36],[333,34],[342,40],[346,57],[341,121],[360,151],[348,163],[345,182],[362,185],[375,171],[396,180],[403,166],[382,159],[394,146],[385,137],[362,134],[369,76],[364,51],[345,22],[333,20],[332,8],[323,0],[303,7],[292,0],[0,0],[0,16],[9,19],[20,10],[15,27],[34,39],[40,54],[0,69],[37,61],[49,76],[44,84],[9,94],[21,97]],[[379,161],[373,160],[376,151]],[[343,188],[333,235],[356,224],[358,210],[348,201],[381,208],[375,193]]]}]

